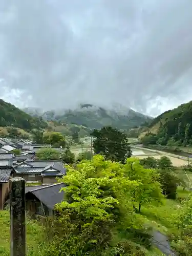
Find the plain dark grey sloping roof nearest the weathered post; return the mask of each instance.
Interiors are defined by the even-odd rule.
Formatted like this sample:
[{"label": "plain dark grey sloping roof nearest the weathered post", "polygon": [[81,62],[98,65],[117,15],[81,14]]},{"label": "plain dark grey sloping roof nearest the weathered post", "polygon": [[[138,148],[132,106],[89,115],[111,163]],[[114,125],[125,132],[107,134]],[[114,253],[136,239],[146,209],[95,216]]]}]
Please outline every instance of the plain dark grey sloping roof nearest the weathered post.
[{"label": "plain dark grey sloping roof nearest the weathered post", "polygon": [[39,201],[45,204],[49,209],[54,209],[55,204],[61,203],[64,193],[60,192],[62,187],[66,185],[63,183],[57,183],[45,187],[35,188],[26,193],[26,200],[31,194],[34,195]]}]

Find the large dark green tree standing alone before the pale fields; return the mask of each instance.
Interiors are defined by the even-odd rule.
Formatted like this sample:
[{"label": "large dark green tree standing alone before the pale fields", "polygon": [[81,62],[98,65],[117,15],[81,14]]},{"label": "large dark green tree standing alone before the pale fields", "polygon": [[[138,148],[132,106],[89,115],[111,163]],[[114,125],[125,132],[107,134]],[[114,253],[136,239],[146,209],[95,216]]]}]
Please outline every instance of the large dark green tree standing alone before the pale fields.
[{"label": "large dark green tree standing alone before the pale fields", "polygon": [[101,130],[94,130],[92,136],[95,154],[101,154],[106,159],[122,163],[126,158],[131,157],[132,152],[127,137],[117,129],[106,126]]}]

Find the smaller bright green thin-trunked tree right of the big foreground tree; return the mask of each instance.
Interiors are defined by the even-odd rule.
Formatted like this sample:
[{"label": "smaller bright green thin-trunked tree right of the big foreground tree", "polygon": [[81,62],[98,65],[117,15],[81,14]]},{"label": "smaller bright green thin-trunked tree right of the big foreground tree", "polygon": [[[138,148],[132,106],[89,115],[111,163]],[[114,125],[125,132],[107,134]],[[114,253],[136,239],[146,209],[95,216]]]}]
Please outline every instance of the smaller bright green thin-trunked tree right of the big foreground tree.
[{"label": "smaller bright green thin-trunked tree right of the big foreground tree", "polygon": [[133,206],[139,203],[141,205],[149,202],[161,202],[163,199],[161,185],[158,182],[159,175],[155,169],[146,169],[139,164],[139,160],[130,158],[124,166],[125,172],[130,180],[137,181],[139,186],[135,188],[132,194]]}]

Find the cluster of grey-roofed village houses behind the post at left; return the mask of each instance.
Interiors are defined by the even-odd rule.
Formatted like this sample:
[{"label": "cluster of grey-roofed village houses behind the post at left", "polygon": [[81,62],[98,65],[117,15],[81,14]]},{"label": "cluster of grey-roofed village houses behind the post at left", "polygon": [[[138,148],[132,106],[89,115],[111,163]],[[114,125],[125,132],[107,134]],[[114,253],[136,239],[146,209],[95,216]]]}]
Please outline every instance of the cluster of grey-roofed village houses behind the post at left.
[{"label": "cluster of grey-roofed village houses behind the post at left", "polygon": [[[35,160],[36,152],[42,147],[51,145],[37,145],[30,140],[0,139],[0,210],[9,204],[10,178],[22,177],[26,180],[26,207],[30,215],[54,213],[55,204],[63,199],[63,192],[59,191],[64,186],[56,183],[56,179],[66,174],[66,168],[59,159]],[[62,151],[60,146],[53,148]],[[16,149],[21,151],[19,155],[13,153]]]}]

